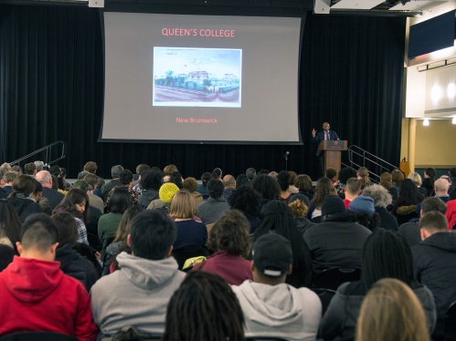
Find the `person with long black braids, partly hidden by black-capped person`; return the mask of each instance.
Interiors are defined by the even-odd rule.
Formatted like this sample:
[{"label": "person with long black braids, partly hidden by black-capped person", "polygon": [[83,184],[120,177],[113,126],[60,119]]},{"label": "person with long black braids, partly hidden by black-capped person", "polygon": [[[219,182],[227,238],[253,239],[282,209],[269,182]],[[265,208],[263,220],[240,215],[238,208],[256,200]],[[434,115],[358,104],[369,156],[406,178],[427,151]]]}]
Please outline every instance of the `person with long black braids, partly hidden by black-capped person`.
[{"label": "person with long black braids, partly hidden by black-capped person", "polygon": [[254,233],[254,241],[266,233],[278,233],[292,243],[292,274],[287,276],[286,284],[296,288],[309,286],[312,279],[312,256],[309,247],[302,238],[292,209],[282,200],[272,200],[261,210],[263,221]]}]

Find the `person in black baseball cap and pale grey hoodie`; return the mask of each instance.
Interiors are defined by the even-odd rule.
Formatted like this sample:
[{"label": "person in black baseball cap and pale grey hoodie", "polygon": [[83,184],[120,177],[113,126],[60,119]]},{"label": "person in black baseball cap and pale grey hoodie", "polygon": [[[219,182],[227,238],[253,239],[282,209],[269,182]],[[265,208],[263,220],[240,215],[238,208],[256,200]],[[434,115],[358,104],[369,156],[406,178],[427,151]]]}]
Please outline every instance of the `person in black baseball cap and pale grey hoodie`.
[{"label": "person in black baseball cap and pale grey hoodie", "polygon": [[253,245],[253,282],[231,288],[244,314],[245,336],[315,340],[322,317],[318,295],[285,284],[292,273],[292,246],[280,234],[260,236]]}]

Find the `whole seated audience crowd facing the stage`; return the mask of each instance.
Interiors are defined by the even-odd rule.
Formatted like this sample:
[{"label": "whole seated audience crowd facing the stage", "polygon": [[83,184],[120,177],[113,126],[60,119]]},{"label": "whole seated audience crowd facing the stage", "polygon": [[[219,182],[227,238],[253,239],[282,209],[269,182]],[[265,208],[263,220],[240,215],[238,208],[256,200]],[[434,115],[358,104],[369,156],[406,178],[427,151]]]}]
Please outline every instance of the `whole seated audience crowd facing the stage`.
[{"label": "whole seated audience crowd facing the stage", "polygon": [[[456,168],[201,181],[175,165],[0,166],[0,336],[82,341],[442,340],[456,301]],[[357,270],[331,292],[323,274]],[[322,290],[330,294],[325,302]],[[327,298],[327,296],[325,296]]]}]

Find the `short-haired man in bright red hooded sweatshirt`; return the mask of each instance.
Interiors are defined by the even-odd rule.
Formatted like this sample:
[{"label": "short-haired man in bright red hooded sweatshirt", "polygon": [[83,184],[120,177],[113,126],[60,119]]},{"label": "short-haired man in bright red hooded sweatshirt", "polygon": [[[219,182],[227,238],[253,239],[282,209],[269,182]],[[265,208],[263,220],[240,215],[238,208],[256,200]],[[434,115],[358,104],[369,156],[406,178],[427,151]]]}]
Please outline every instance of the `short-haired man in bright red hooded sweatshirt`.
[{"label": "short-haired man in bright red hooded sweatshirt", "polygon": [[20,332],[55,332],[93,341],[90,298],[80,281],[55,262],[58,229],[44,213],[22,225],[20,257],[0,273],[0,337]]}]

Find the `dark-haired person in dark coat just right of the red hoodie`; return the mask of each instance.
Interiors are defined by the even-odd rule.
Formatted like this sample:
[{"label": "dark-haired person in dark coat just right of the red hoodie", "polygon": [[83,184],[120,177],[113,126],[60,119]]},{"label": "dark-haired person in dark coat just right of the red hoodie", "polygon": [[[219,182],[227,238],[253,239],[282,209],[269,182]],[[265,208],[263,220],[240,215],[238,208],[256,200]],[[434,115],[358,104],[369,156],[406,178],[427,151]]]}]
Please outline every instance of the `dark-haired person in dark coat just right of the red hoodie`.
[{"label": "dark-haired person in dark coat just right of the red hoodie", "polygon": [[90,288],[100,278],[97,270],[87,259],[72,249],[78,239],[78,223],[69,213],[57,213],[52,220],[58,228],[56,261],[64,274],[76,278],[90,292]]}]

